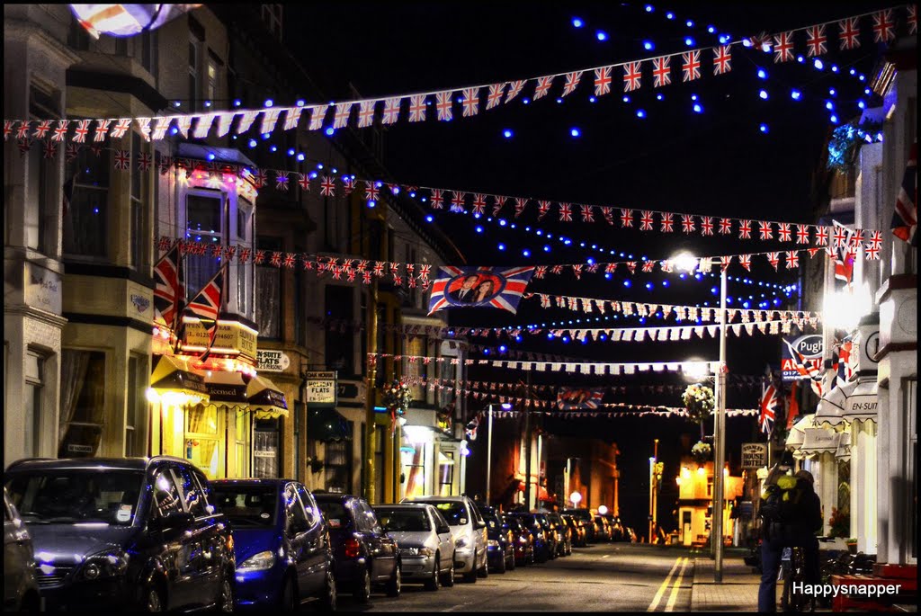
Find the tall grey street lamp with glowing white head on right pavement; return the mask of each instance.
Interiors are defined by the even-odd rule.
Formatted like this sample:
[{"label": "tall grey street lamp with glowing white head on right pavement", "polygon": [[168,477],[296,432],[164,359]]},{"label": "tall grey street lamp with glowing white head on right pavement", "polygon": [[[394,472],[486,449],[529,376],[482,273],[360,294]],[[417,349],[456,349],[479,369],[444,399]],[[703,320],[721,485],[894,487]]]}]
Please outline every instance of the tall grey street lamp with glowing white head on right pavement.
[{"label": "tall grey street lamp with glowing white head on right pavement", "polygon": [[[672,266],[686,272],[693,272],[697,259],[689,252],[682,252],[671,259]],[[719,269],[719,369],[716,375],[717,408],[714,409],[713,448],[713,580],[723,581],[723,500],[724,477],[722,468],[726,465],[726,268]]]}]

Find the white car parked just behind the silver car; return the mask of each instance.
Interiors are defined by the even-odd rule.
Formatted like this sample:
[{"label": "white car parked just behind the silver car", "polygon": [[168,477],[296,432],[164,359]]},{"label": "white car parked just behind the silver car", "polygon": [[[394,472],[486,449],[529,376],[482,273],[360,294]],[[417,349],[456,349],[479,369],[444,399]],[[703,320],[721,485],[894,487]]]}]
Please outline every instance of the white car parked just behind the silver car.
[{"label": "white car parked just behind the silver car", "polygon": [[478,576],[489,575],[486,522],[468,496],[415,496],[402,502],[429,503],[448,520],[456,548],[454,570],[463,575],[465,582],[475,583]]}]

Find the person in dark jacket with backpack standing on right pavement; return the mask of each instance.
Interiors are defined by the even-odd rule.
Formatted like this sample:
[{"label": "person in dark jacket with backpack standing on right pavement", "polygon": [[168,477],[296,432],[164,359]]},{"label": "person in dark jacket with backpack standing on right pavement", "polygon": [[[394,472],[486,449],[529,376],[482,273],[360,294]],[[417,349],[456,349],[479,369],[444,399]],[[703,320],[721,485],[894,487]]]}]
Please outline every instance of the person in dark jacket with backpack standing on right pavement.
[{"label": "person in dark jacket with backpack standing on right pavement", "polygon": [[[803,581],[819,583],[819,540],[815,533],[822,529],[822,502],[815,494],[815,480],[809,471],[797,471],[791,477],[779,469],[781,464],[775,467],[780,472],[772,471],[765,480],[761,501],[764,524],[758,611],[764,612],[777,610],[777,573],[784,548],[802,548],[806,569]],[[780,513],[775,512],[777,508]]]}]

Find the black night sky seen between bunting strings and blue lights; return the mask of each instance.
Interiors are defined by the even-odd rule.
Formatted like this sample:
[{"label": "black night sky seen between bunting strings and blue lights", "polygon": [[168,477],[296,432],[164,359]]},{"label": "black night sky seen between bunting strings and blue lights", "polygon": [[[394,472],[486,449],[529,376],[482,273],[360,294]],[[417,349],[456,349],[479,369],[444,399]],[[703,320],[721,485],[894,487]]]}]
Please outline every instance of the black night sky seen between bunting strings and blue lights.
[{"label": "black night sky seen between bunting strings and blue lights", "polygon": [[[559,3],[562,5],[563,3]],[[885,2],[745,2],[694,3],[659,6],[652,11],[642,3],[594,3],[558,6],[550,3],[311,3],[286,6],[286,39],[301,64],[334,100],[349,97],[348,86],[362,97],[409,94],[507,82],[548,74],[579,70],[602,64],[641,60],[659,54],[681,52],[692,45],[712,47],[717,37],[729,34],[732,41],[762,31],[775,33],[815,23],[854,16],[887,6]],[[673,11],[673,18],[667,13]],[[900,15],[902,15],[900,13]],[[573,19],[583,25],[576,28]],[[693,22],[692,26],[687,21]],[[821,180],[826,139],[833,123],[859,116],[858,100],[869,107],[874,99],[866,96],[873,64],[880,48],[872,42],[869,18],[864,22],[859,49],[839,52],[837,27],[831,25],[829,53],[823,70],[807,60],[799,64],[775,64],[771,53],[733,46],[731,72],[714,76],[711,52],[705,49],[702,77],[684,84],[680,58],[672,60],[672,82],[652,87],[647,64],[641,87],[629,93],[624,102],[622,69],[612,71],[612,92],[591,102],[593,75],[586,72],[577,89],[562,103],[556,102],[563,78],[554,80],[550,94],[525,104],[533,95],[529,81],[519,97],[509,104],[485,110],[485,99],[474,118],[461,118],[461,106],[454,106],[451,122],[437,122],[434,104],[426,122],[400,122],[385,134],[384,165],[392,179],[402,183],[456,188],[465,192],[492,192],[509,196],[528,196],[572,203],[593,203],[695,215],[751,217],[813,223],[816,207],[825,203],[813,192],[813,181]],[[295,25],[297,24],[297,25]],[[707,31],[713,26],[715,31]],[[604,41],[599,40],[599,32]],[[644,43],[651,42],[651,51]],[[805,55],[804,35],[796,39],[795,52]],[[839,66],[833,73],[831,64]],[[758,76],[759,68],[766,78]],[[860,82],[850,76],[868,77]],[[799,101],[791,90],[801,92]],[[830,90],[834,89],[834,95]],[[767,95],[763,99],[761,90]],[[657,99],[661,94],[663,99]],[[483,92],[483,97],[485,91]],[[696,97],[696,99],[693,99]],[[834,110],[826,109],[832,100]],[[695,112],[694,104],[702,106]],[[642,110],[645,117],[638,117]],[[764,124],[766,132],[761,128]],[[572,136],[577,129],[579,136]],[[360,129],[359,129],[360,130]],[[504,136],[511,131],[511,136]],[[820,181],[821,185],[821,181]],[[491,208],[487,208],[487,212]],[[770,248],[758,240],[701,238],[699,233],[681,233],[680,216],[676,232],[641,233],[622,230],[619,221],[583,224],[558,222],[555,210],[537,223],[534,206],[512,220],[514,208],[507,205],[504,215],[516,222],[516,229],[498,227],[495,221],[474,221],[469,215],[433,213],[435,223],[450,229],[450,237],[476,265],[521,265],[623,261],[611,257],[609,250],[633,254],[636,260],[646,255],[652,260],[670,257],[679,249],[698,255],[738,254]],[[619,210],[615,210],[615,217]],[[600,215],[596,211],[596,218]],[[477,226],[483,232],[476,231]],[[524,231],[521,227],[530,227]],[[550,232],[553,240],[538,237],[536,228]],[[556,236],[572,243],[565,246]],[[587,247],[579,244],[585,242]],[[499,244],[505,250],[499,250]],[[605,253],[591,250],[595,244]],[[543,249],[550,247],[549,251]],[[787,250],[790,246],[787,246]],[[530,256],[524,255],[530,251]],[[729,296],[753,296],[752,308],[760,301],[779,297],[785,308],[797,308],[797,296],[766,285],[788,285],[795,273],[781,266],[775,273],[764,261],[753,263],[752,273],[738,266],[729,271],[734,278],[754,281],[745,285],[734,280]],[[605,280],[601,275],[555,276],[532,281],[531,291],[575,296],[603,297],[622,301],[666,304],[718,305],[713,288],[716,277],[702,281],[680,280],[676,275],[636,273],[624,286],[623,273]],[[669,286],[663,286],[667,282]],[[762,285],[758,285],[761,282]],[[653,289],[647,289],[647,283]],[[764,297],[761,294],[765,294]],[[451,322],[457,325],[504,326],[574,320],[584,315],[566,310],[543,310],[536,300],[522,302],[518,315],[497,314],[484,309],[454,310]],[[461,312],[463,312],[461,314]],[[592,315],[597,316],[597,315]],[[648,325],[673,324],[670,320],[648,319]],[[639,326],[637,319],[605,321],[606,326]],[[495,342],[497,346],[499,343]],[[680,361],[692,356],[716,360],[716,340],[695,343],[562,343],[525,336],[522,343],[510,343],[513,350],[565,354],[595,361]],[[766,364],[779,363],[777,336],[755,334],[737,339],[729,337],[728,363],[736,375],[764,374]],[[513,370],[471,371],[471,378],[512,381],[523,378]],[[679,377],[565,378],[586,385],[626,385],[625,396],[609,394],[605,401],[653,402],[680,406],[679,395],[650,397],[639,392],[641,384],[683,383]],[[535,382],[559,385],[559,376],[540,374]],[[760,388],[729,389],[730,408],[755,408]],[[477,402],[474,402],[477,403]],[[728,419],[727,456],[738,465],[739,443],[758,439],[753,418]],[[682,453],[682,434],[693,444],[697,427],[681,419],[544,419],[553,433],[592,435],[614,440],[622,452],[621,504],[629,523],[643,528],[648,494],[648,457],[652,440],[660,438],[659,454],[664,459],[665,484],[660,498],[660,520],[667,528],[676,497],[673,477]],[[763,436],[761,437],[763,439]],[[686,450],[686,449],[685,449]],[[629,506],[634,502],[635,506]]]}]

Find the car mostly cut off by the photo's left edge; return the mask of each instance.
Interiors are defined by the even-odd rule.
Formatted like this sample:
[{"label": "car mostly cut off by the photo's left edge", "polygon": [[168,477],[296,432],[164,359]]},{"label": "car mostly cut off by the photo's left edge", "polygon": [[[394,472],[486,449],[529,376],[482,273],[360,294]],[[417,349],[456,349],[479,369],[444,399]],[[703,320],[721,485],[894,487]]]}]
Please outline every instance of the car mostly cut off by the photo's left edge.
[{"label": "car mostly cut off by the photo's left edge", "polygon": [[32,537],[16,506],[3,491],[3,607],[5,611],[38,611]]}]

